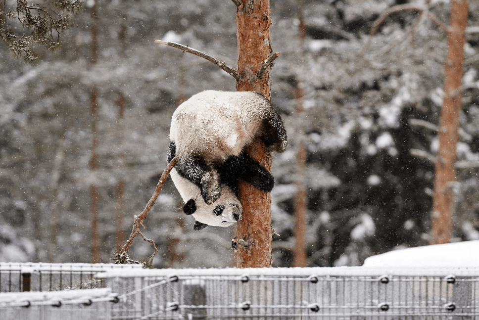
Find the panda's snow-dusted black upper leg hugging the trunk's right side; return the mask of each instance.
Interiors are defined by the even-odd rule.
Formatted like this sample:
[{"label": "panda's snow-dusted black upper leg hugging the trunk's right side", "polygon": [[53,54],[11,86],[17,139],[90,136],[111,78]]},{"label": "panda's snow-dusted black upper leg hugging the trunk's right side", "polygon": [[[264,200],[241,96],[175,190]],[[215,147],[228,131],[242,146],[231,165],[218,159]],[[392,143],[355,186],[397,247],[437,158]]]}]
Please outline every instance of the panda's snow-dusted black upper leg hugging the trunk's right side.
[{"label": "panda's snow-dusted black upper leg hugging the trunk's right side", "polygon": [[263,130],[261,140],[266,145],[269,152],[283,152],[287,146],[287,135],[283,120],[275,112],[271,111],[263,120]]}]

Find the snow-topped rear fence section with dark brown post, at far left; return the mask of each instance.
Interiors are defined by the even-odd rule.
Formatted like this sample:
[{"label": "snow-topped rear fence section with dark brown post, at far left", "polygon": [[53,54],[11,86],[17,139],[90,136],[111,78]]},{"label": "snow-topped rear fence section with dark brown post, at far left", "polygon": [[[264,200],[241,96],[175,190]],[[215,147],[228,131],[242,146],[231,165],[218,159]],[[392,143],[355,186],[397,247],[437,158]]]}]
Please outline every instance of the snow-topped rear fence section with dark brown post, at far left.
[{"label": "snow-topped rear fence section with dark brown post, at far left", "polygon": [[0,292],[52,291],[104,287],[94,275],[107,270],[141,269],[143,265],[0,262]]}]

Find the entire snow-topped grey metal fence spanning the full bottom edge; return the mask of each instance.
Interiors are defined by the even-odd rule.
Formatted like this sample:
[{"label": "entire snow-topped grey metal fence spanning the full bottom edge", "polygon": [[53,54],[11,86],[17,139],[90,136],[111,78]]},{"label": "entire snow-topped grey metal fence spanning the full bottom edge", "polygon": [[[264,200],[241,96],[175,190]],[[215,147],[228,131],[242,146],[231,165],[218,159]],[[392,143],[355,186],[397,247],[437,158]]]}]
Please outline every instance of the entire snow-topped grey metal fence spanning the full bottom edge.
[{"label": "entire snow-topped grey metal fence spanning the full bottom edge", "polygon": [[[0,293],[2,320],[479,320],[479,268],[144,270],[31,264],[14,266],[8,275],[5,266],[0,265],[5,279],[19,283],[2,286],[21,288],[21,273],[33,268],[32,289],[43,292]],[[94,279],[106,288],[73,289],[86,288],[74,279]],[[68,290],[48,292],[50,287]]]}]

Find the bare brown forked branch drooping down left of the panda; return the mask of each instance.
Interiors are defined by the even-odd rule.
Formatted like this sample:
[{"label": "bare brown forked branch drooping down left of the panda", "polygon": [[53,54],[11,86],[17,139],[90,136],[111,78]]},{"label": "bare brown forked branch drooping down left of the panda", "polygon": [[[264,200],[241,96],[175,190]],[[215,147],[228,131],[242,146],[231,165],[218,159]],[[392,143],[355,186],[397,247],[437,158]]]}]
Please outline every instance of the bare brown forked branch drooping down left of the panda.
[{"label": "bare brown forked branch drooping down left of the panda", "polygon": [[153,193],[153,195],[149,199],[149,201],[146,204],[146,207],[144,208],[142,213],[138,216],[135,215],[133,217],[134,222],[133,222],[132,233],[130,234],[130,238],[127,240],[127,242],[125,243],[123,248],[121,248],[121,250],[119,252],[119,258],[115,261],[115,263],[117,263],[117,264],[128,263],[127,261],[131,260],[130,257],[128,256],[128,250],[130,249],[130,247],[133,243],[133,239],[135,239],[135,237],[137,235],[140,235],[143,238],[144,241],[147,241],[147,242],[149,242],[153,245],[153,248],[154,248],[155,252],[151,256],[146,258],[146,261],[147,261],[148,264],[153,263],[153,257],[158,252],[158,249],[156,249],[156,245],[155,245],[155,242],[153,240],[150,240],[143,235],[142,231],[140,230],[140,225],[143,226],[143,228],[146,229],[146,227],[143,224],[143,221],[148,216],[148,212],[150,211],[150,209],[155,204],[156,199],[158,199],[158,195],[160,194],[161,189],[163,188],[163,184],[165,183],[166,179],[168,178],[168,175],[170,174],[170,171],[173,169],[173,167],[175,167],[175,165],[176,165],[176,157],[174,157],[170,161],[168,166],[166,166],[165,170],[163,171],[163,174],[161,175],[160,181],[158,181],[158,184],[156,185],[155,192]]}]

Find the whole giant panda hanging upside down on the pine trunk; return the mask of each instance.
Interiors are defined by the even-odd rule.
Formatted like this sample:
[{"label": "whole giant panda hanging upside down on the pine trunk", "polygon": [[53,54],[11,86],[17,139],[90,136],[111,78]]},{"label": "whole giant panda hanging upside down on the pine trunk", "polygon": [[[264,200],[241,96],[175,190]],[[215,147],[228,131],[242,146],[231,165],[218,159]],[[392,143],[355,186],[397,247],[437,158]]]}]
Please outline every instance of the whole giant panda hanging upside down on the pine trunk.
[{"label": "whole giant panda hanging upside down on the pine trunk", "polygon": [[203,91],[183,102],[170,127],[170,175],[195,218],[193,229],[229,227],[241,218],[238,181],[270,192],[273,176],[244,148],[256,137],[268,152],[283,152],[287,137],[280,116],[255,92]]}]

